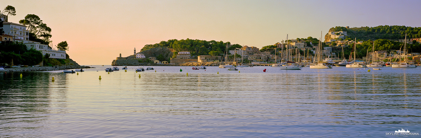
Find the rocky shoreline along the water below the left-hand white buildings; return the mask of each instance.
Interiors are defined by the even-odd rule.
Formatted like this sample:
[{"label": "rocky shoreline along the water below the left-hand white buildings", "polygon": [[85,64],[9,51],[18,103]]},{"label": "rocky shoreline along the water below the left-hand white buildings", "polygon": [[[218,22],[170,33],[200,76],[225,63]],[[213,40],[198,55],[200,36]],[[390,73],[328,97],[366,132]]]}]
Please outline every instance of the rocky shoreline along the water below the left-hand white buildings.
[{"label": "rocky shoreline along the water below the left-hand white buildings", "polygon": [[88,66],[53,66],[53,67],[26,67],[26,68],[5,68],[0,70],[0,72],[33,72],[33,71],[53,71],[53,70],[72,70],[72,69],[81,69],[81,68],[93,68]]}]

